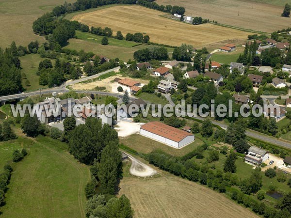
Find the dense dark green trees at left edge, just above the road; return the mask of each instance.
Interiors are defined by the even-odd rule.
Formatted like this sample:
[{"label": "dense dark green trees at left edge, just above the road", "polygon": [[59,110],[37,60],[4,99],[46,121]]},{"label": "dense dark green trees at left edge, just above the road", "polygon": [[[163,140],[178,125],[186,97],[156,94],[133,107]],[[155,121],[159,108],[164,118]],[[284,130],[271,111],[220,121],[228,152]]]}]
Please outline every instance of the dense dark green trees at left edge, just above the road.
[{"label": "dense dark green trees at left edge, just above the road", "polygon": [[9,48],[0,48],[0,95],[19,93],[22,90],[20,60],[13,42]]}]

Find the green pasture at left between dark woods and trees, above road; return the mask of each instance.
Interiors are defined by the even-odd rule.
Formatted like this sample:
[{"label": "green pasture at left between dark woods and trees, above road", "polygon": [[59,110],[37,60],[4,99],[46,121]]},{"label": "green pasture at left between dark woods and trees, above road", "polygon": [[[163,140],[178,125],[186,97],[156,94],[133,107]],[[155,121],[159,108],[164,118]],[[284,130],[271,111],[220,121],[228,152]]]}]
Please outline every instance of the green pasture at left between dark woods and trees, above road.
[{"label": "green pasture at left between dark woods and trees, above road", "polygon": [[[45,58],[41,58],[39,54],[28,54],[19,58],[21,62],[21,77],[22,86],[26,91],[37,90],[42,88],[47,88],[48,86],[40,86],[38,79],[39,76],[36,75],[38,71],[38,64]],[[54,60],[51,60],[54,65]],[[27,80],[30,86],[27,86]]]}]

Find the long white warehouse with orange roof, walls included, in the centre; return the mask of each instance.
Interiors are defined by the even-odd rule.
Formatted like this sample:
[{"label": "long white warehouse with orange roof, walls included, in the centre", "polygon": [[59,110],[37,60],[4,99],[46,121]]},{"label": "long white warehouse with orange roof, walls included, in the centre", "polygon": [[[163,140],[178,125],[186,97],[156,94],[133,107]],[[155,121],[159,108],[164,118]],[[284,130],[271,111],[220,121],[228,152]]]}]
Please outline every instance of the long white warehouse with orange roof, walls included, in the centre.
[{"label": "long white warehouse with orange roof, walls included, in the centre", "polygon": [[157,121],[142,125],[140,134],[174,148],[181,148],[194,141],[193,134]]}]

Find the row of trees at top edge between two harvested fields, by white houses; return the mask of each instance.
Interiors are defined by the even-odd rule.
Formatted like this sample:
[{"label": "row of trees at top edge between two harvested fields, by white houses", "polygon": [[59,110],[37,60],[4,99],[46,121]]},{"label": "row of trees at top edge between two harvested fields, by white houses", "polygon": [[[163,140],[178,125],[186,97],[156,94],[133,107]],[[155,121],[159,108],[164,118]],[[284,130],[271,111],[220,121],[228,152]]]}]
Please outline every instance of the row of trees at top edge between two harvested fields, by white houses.
[{"label": "row of trees at top edge between two harvested fields, by white houses", "polygon": [[155,9],[155,10],[159,10],[162,12],[167,12],[167,13],[171,13],[172,15],[174,14],[178,14],[178,15],[184,15],[185,14],[185,8],[181,7],[181,6],[172,6],[172,5],[159,5],[156,2],[152,1],[152,0],[138,0],[137,4],[143,5],[147,8],[151,8],[151,9]]}]

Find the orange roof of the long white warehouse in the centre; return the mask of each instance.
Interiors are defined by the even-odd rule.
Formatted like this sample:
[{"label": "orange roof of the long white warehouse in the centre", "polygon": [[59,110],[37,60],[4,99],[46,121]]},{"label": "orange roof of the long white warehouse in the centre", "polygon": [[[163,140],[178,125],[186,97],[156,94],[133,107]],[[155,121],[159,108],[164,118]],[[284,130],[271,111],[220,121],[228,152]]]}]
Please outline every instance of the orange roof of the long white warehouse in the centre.
[{"label": "orange roof of the long white warehouse in the centre", "polygon": [[180,142],[187,136],[193,136],[193,134],[183,131],[181,129],[174,128],[169,125],[154,121],[149,122],[141,126],[141,129],[154,133],[156,135],[162,136],[166,139]]}]

